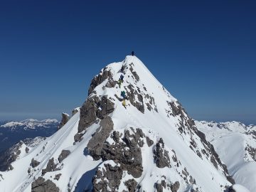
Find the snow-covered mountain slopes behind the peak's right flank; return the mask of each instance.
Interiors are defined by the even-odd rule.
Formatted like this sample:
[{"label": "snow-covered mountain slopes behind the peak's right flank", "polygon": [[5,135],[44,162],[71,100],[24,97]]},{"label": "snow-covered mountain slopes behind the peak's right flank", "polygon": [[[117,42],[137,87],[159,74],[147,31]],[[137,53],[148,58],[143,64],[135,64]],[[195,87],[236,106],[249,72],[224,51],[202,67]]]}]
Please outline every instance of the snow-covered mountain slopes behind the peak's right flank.
[{"label": "snow-covered mountain slopes behind the peak's right flank", "polygon": [[235,183],[256,191],[256,132],[255,126],[240,122],[197,122],[220,159],[228,166]]}]

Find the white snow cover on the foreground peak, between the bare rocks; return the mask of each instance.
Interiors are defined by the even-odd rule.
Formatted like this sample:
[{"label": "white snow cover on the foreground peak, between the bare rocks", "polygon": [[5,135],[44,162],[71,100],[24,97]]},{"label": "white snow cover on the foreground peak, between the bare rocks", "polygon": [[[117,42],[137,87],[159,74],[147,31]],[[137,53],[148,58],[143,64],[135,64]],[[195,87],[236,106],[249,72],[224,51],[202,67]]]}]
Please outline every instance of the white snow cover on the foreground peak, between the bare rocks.
[{"label": "white snow cover on the foreground peak, between the bare rocks", "polygon": [[[161,183],[161,180],[164,178],[163,176],[166,177],[166,181],[169,183],[174,183],[175,181],[180,183],[178,192],[189,192],[196,188],[201,192],[220,192],[225,190],[225,186],[231,186],[220,166],[218,166],[218,169],[215,169],[215,166],[210,162],[210,158],[203,154],[200,158],[196,154],[196,151],[191,149],[191,135],[188,134],[189,131],[186,130],[187,134],[181,134],[178,131],[178,124],[181,122],[181,117],[174,117],[166,113],[166,110],[170,110],[167,101],[174,102],[175,105],[178,105],[177,100],[154,78],[154,75],[149,72],[142,61],[135,56],[127,56],[122,62],[111,63],[106,68],[111,71],[114,80],[118,80],[121,75],[119,71],[123,65],[127,68],[132,66],[134,71],[137,72],[137,75],[139,75],[139,80],[135,80],[132,72],[125,69],[124,83],[121,89],[119,89],[118,85],[112,88],[105,87],[107,83],[107,80],[105,80],[95,87],[96,93],[92,95],[99,97],[107,95],[107,97],[114,99],[114,101],[112,100],[114,102],[114,112],[110,114],[114,122],[114,130],[124,132],[126,129],[131,129],[130,127],[139,127],[147,137],[154,141],[154,144],[149,147],[146,145],[146,140],[144,139],[145,144],[142,147],[143,173],[141,177],[134,178],[142,186],[140,191],[156,191],[154,183]],[[141,91],[154,97],[155,107],[158,112],[156,110],[149,111],[146,108],[145,104],[149,102],[149,99],[146,97],[144,97],[143,101],[145,106],[144,114],[139,112],[129,101],[127,101],[127,109],[125,109],[122,106],[122,102],[119,102],[114,95],[119,96],[121,90],[124,90],[124,86],[128,85],[139,87]],[[144,90],[144,87],[146,90]],[[92,97],[92,95],[89,97]],[[185,118],[188,119],[186,114]],[[85,147],[92,138],[92,134],[99,128],[99,124],[95,123],[88,127],[82,137],[82,141],[74,144],[74,136],[78,133],[79,120],[80,112],[73,115],[67,124],[59,129],[58,132],[42,141],[38,146],[31,148],[28,154],[22,153],[21,158],[12,163],[14,167],[12,171],[0,171],[2,176],[2,179],[0,177],[1,191],[31,191],[33,180],[41,176],[41,171],[46,168],[49,159],[54,158],[55,163],[58,163],[58,156],[63,149],[69,150],[70,155],[61,164],[58,164],[60,170],[48,172],[43,178],[53,181],[60,188],[60,191],[75,191],[75,188],[76,191],[90,189],[95,171],[97,169],[104,169],[104,164],[106,163],[112,164],[113,166],[115,163],[114,161],[102,162],[102,159],[94,161],[92,156],[85,152]],[[240,128],[238,127],[238,129]],[[192,135],[198,149],[200,151],[204,149],[201,139],[194,133]],[[169,151],[171,168],[165,167],[160,169],[154,163],[153,149],[160,138],[164,140],[165,149]],[[213,137],[210,138],[214,139]],[[111,143],[113,141],[109,137],[107,142]],[[171,156],[174,155],[174,151],[172,150],[176,152],[177,159],[181,163],[180,166],[176,166],[176,163],[172,161]],[[31,159],[36,159],[36,161],[40,161],[41,163],[35,168],[31,168]],[[236,162],[236,164],[240,163],[240,160]],[[28,168],[31,168],[30,174],[28,174]],[[185,168],[190,176],[196,180],[196,184],[188,182],[189,176],[186,178],[187,180],[183,179],[184,176],[181,172]],[[233,170],[235,171],[235,168]],[[54,179],[57,174],[62,174],[58,181]],[[130,178],[132,176],[127,171],[124,171],[118,191],[127,190],[127,187],[124,186],[124,181]],[[164,188],[164,191],[168,191],[167,188]]]}]

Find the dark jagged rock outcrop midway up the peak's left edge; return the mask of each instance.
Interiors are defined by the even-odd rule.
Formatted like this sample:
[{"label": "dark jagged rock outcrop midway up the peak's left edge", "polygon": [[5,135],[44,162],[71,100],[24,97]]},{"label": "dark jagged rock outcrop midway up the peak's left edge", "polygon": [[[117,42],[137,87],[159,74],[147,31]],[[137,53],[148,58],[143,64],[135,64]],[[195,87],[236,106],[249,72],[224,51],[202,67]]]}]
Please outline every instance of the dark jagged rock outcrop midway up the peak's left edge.
[{"label": "dark jagged rock outcrop midway up the peak's left edge", "polygon": [[104,95],[101,99],[97,96],[89,97],[80,109],[78,132],[82,132],[96,122],[114,111],[114,103]]}]

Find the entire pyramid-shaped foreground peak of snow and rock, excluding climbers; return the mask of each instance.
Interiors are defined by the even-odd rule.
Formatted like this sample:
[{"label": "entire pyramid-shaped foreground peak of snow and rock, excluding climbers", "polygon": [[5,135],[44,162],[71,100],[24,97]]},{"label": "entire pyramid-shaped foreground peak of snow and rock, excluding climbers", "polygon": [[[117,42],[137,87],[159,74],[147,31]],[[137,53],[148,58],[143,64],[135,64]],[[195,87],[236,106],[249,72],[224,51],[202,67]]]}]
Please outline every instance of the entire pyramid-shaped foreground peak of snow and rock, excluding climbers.
[{"label": "entire pyramid-shaped foreground peak of snow and rock, excluding climbers", "polygon": [[80,111],[20,151],[0,172],[1,191],[218,192],[233,180],[205,135],[135,56],[102,69]]}]

